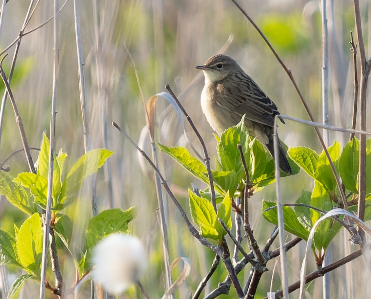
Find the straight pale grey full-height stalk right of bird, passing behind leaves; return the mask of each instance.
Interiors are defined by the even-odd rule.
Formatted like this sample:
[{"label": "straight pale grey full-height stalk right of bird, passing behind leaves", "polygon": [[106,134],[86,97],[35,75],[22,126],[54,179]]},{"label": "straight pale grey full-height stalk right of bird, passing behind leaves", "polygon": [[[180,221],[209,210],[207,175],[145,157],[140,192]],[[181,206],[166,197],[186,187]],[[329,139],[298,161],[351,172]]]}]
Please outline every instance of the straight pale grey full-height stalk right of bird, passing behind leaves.
[{"label": "straight pale grey full-height stalk right of bird, passing behind leaves", "polygon": [[[325,125],[329,124],[328,118],[328,27],[327,27],[327,14],[326,14],[326,0],[322,0],[322,122]],[[326,147],[330,143],[330,131],[323,129],[324,142]],[[330,250],[327,250],[323,266],[327,266],[330,263]],[[322,251],[324,254],[324,251]],[[330,274],[326,273],[322,277],[322,290],[323,298],[330,299]]]}]

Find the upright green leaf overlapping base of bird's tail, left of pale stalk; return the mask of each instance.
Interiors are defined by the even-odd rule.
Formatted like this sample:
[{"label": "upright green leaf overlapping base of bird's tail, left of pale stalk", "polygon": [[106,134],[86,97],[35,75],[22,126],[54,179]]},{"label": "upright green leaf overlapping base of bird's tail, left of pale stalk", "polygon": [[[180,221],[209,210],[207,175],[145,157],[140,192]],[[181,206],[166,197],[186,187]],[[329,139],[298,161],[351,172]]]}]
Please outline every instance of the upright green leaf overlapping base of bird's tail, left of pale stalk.
[{"label": "upright green leaf overlapping base of bird's tail, left of pale stalk", "polygon": [[265,173],[267,155],[262,144],[254,138],[249,144],[250,147],[250,168],[249,178],[253,182]]}]

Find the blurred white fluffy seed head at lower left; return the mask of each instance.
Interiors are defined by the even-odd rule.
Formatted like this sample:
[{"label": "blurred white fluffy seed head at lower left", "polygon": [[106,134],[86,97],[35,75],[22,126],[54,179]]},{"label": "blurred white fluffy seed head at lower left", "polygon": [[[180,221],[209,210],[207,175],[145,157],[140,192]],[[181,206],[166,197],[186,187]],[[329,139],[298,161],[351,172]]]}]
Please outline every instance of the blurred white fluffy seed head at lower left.
[{"label": "blurred white fluffy seed head at lower left", "polygon": [[137,237],[111,234],[98,243],[92,256],[93,279],[116,295],[139,281],[147,267],[143,244]]}]

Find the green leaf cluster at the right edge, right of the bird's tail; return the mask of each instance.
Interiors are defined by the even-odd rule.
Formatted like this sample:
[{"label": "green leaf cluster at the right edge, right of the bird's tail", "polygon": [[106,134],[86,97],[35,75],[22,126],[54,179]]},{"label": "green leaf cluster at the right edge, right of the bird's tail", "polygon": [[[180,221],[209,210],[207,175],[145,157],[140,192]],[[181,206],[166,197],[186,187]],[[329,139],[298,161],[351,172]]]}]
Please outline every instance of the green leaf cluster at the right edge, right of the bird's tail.
[{"label": "green leaf cluster at the right edge, right of the bird's tail", "polygon": [[[345,186],[346,193],[349,194],[348,198],[351,198],[348,201],[349,211],[356,211],[357,207],[354,204],[358,199],[359,140],[357,138],[352,139],[345,145],[342,151],[339,142],[335,141],[332,146],[328,147],[328,152],[334,163],[336,173]],[[366,188],[368,195],[365,220],[370,220],[371,139],[367,140],[366,152],[366,178],[369,178],[369,181]],[[342,207],[334,173],[324,151],[318,154],[307,147],[295,147],[290,148],[288,154],[314,180],[313,190],[302,190],[302,194],[296,200],[296,204],[305,204],[324,212],[328,212],[335,207]],[[275,202],[263,201],[263,216],[269,222],[277,224],[276,209],[265,211],[274,205]],[[283,207],[285,229],[307,240],[313,225],[323,216],[322,212],[313,208],[304,206],[295,206],[293,209]],[[342,225],[332,219],[321,222],[314,234],[314,246],[319,253],[322,248],[326,250],[331,240],[341,228]]]}]

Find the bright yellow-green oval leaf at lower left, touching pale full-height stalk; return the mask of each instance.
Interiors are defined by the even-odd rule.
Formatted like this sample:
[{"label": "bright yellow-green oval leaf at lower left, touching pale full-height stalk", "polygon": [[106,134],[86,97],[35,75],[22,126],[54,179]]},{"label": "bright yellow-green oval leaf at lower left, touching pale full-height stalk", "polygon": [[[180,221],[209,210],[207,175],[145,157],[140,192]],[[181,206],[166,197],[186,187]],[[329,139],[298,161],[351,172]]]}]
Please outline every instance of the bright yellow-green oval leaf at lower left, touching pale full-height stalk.
[{"label": "bright yellow-green oval leaf at lower left, touching pale full-height stalk", "polygon": [[42,259],[43,229],[39,214],[35,213],[23,222],[16,244],[20,264],[39,277]]}]

